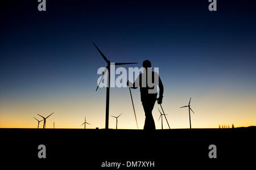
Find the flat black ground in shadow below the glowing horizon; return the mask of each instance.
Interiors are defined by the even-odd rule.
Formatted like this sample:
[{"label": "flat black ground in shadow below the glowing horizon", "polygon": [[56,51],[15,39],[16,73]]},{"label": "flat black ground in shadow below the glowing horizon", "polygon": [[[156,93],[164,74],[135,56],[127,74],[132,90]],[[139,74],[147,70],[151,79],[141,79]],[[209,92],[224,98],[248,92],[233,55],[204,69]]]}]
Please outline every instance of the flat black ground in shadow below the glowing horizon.
[{"label": "flat black ground in shadow below the glowing horizon", "polygon": [[[172,167],[179,161],[185,164],[185,160],[192,160],[192,166],[227,160],[247,159],[250,162],[256,158],[255,132],[255,126],[156,130],[152,133],[142,130],[0,129],[1,162],[55,162],[61,166],[85,165],[93,169],[101,168],[106,160],[124,164],[126,161],[154,161],[157,169]],[[46,146],[46,159],[38,158],[41,144]],[[208,157],[208,147],[212,144],[217,146],[217,159]]]}]

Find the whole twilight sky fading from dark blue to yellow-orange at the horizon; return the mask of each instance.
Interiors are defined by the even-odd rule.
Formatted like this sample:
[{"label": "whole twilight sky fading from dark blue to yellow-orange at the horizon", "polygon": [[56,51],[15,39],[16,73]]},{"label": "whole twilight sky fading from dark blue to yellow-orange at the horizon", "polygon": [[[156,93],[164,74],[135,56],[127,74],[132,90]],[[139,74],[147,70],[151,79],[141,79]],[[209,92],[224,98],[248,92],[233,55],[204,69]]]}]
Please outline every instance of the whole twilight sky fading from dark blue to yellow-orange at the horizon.
[{"label": "whole twilight sky fading from dark blue to yellow-orange at the horizon", "polygon": [[[159,67],[163,108],[171,128],[256,125],[256,3],[217,1],[1,1],[0,128],[105,128],[106,89],[97,92],[97,69],[144,59]],[[144,112],[132,90],[139,128]],[[156,104],[153,110],[160,129]],[[110,115],[118,128],[136,129],[128,88],[111,88]],[[41,124],[42,126],[43,124]],[[164,122],[164,128],[167,128]],[[115,118],[109,118],[115,128]]]}]

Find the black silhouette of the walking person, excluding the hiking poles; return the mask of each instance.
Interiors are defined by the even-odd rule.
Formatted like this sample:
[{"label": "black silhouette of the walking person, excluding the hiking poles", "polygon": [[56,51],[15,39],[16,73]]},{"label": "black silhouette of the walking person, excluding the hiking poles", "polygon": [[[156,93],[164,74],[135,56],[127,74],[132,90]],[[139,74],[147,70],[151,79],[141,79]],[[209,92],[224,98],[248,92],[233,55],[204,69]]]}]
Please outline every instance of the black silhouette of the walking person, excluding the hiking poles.
[{"label": "black silhouette of the walking person, excluding the hiking poles", "polygon": [[[158,95],[157,86],[159,87],[158,104],[162,104],[163,100],[163,84],[158,73],[152,71],[151,62],[143,61],[144,72],[139,74],[134,83],[127,81],[127,86],[131,88],[140,87],[141,101],[145,112],[144,130],[155,130],[155,122],[152,116],[152,110]],[[151,75],[151,79],[149,78]],[[156,81],[155,81],[156,80]]]}]

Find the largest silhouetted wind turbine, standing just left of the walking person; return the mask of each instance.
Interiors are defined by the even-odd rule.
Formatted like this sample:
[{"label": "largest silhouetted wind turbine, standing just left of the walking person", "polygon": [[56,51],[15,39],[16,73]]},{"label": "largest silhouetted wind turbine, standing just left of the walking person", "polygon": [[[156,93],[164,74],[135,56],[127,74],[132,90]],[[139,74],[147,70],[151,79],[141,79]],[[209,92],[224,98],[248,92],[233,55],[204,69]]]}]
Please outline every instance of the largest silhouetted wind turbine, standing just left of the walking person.
[{"label": "largest silhouetted wind turbine, standing just left of the walking person", "polygon": [[[137,62],[115,62],[115,63],[110,63],[110,60],[107,59],[104,54],[101,52],[100,49],[98,49],[98,47],[94,44],[93,45],[97,48],[98,52],[100,52],[102,58],[106,61],[106,63],[108,64],[106,66],[106,69],[104,70],[104,74],[102,74],[101,76],[101,80],[98,84],[98,86],[100,86],[100,83],[102,81],[102,79],[104,78],[106,71],[108,71],[108,78],[107,78],[107,87],[106,87],[106,122],[105,122],[105,129],[109,129],[109,91],[110,91],[110,65],[129,65],[129,64],[134,64]],[[96,88],[96,91],[98,90],[98,86]]]}]

